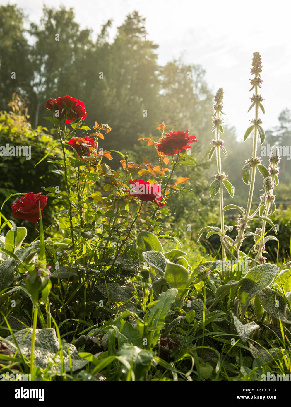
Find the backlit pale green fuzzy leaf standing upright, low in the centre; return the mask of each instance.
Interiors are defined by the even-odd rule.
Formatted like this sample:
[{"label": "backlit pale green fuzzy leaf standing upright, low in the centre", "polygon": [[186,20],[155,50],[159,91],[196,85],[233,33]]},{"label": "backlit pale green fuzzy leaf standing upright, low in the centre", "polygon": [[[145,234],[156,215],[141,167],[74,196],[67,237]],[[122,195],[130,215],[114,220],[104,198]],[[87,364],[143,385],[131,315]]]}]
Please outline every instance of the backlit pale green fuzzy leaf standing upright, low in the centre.
[{"label": "backlit pale green fuzzy leaf standing upright, low in the centre", "polygon": [[167,263],[164,279],[168,282],[171,288],[176,288],[178,290],[176,298],[178,302],[177,306],[182,306],[184,298],[187,295],[186,287],[189,282],[189,271],[177,263]]}]

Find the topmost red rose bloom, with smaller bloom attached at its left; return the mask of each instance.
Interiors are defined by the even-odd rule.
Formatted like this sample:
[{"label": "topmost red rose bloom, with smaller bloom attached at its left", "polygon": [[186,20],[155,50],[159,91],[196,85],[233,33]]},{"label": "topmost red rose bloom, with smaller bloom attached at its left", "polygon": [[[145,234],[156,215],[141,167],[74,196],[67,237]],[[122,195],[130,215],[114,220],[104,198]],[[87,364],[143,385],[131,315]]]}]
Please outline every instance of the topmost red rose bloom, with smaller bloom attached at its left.
[{"label": "topmost red rose bloom, with smaller bloom attached at its left", "polygon": [[[59,118],[66,117],[66,107],[70,107],[70,111],[68,112],[66,123],[74,122],[75,120],[79,119],[80,117],[82,120],[87,116],[87,112],[85,110],[85,104],[82,101],[79,101],[75,97],[71,96],[61,96],[57,99],[48,99],[46,102],[46,107],[49,110],[59,110]],[[55,117],[55,113],[54,113]]]}]

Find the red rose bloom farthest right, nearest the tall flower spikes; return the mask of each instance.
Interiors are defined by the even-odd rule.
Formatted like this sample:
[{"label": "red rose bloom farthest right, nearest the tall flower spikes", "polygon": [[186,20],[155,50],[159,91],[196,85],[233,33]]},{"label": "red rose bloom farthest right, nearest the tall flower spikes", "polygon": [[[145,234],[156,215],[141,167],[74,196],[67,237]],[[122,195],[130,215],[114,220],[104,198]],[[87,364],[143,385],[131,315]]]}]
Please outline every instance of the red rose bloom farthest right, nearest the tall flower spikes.
[{"label": "red rose bloom farthest right, nearest the tall flower spikes", "polygon": [[191,149],[189,143],[197,142],[195,136],[189,136],[188,131],[170,131],[158,144],[158,151],[165,155],[177,155],[179,151]]}]

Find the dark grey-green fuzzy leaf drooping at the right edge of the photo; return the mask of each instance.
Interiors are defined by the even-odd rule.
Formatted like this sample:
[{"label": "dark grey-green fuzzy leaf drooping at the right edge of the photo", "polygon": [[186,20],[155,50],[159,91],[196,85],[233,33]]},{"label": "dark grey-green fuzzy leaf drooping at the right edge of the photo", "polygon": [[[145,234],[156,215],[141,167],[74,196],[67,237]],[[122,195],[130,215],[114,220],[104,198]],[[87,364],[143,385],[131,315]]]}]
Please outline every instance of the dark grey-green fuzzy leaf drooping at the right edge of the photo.
[{"label": "dark grey-green fuzzy leaf drooping at the right edge of the photo", "polygon": [[269,287],[263,289],[257,295],[261,300],[263,309],[272,317],[279,319],[280,316],[283,324],[291,325],[291,314],[287,308],[287,299],[283,295]]}]

